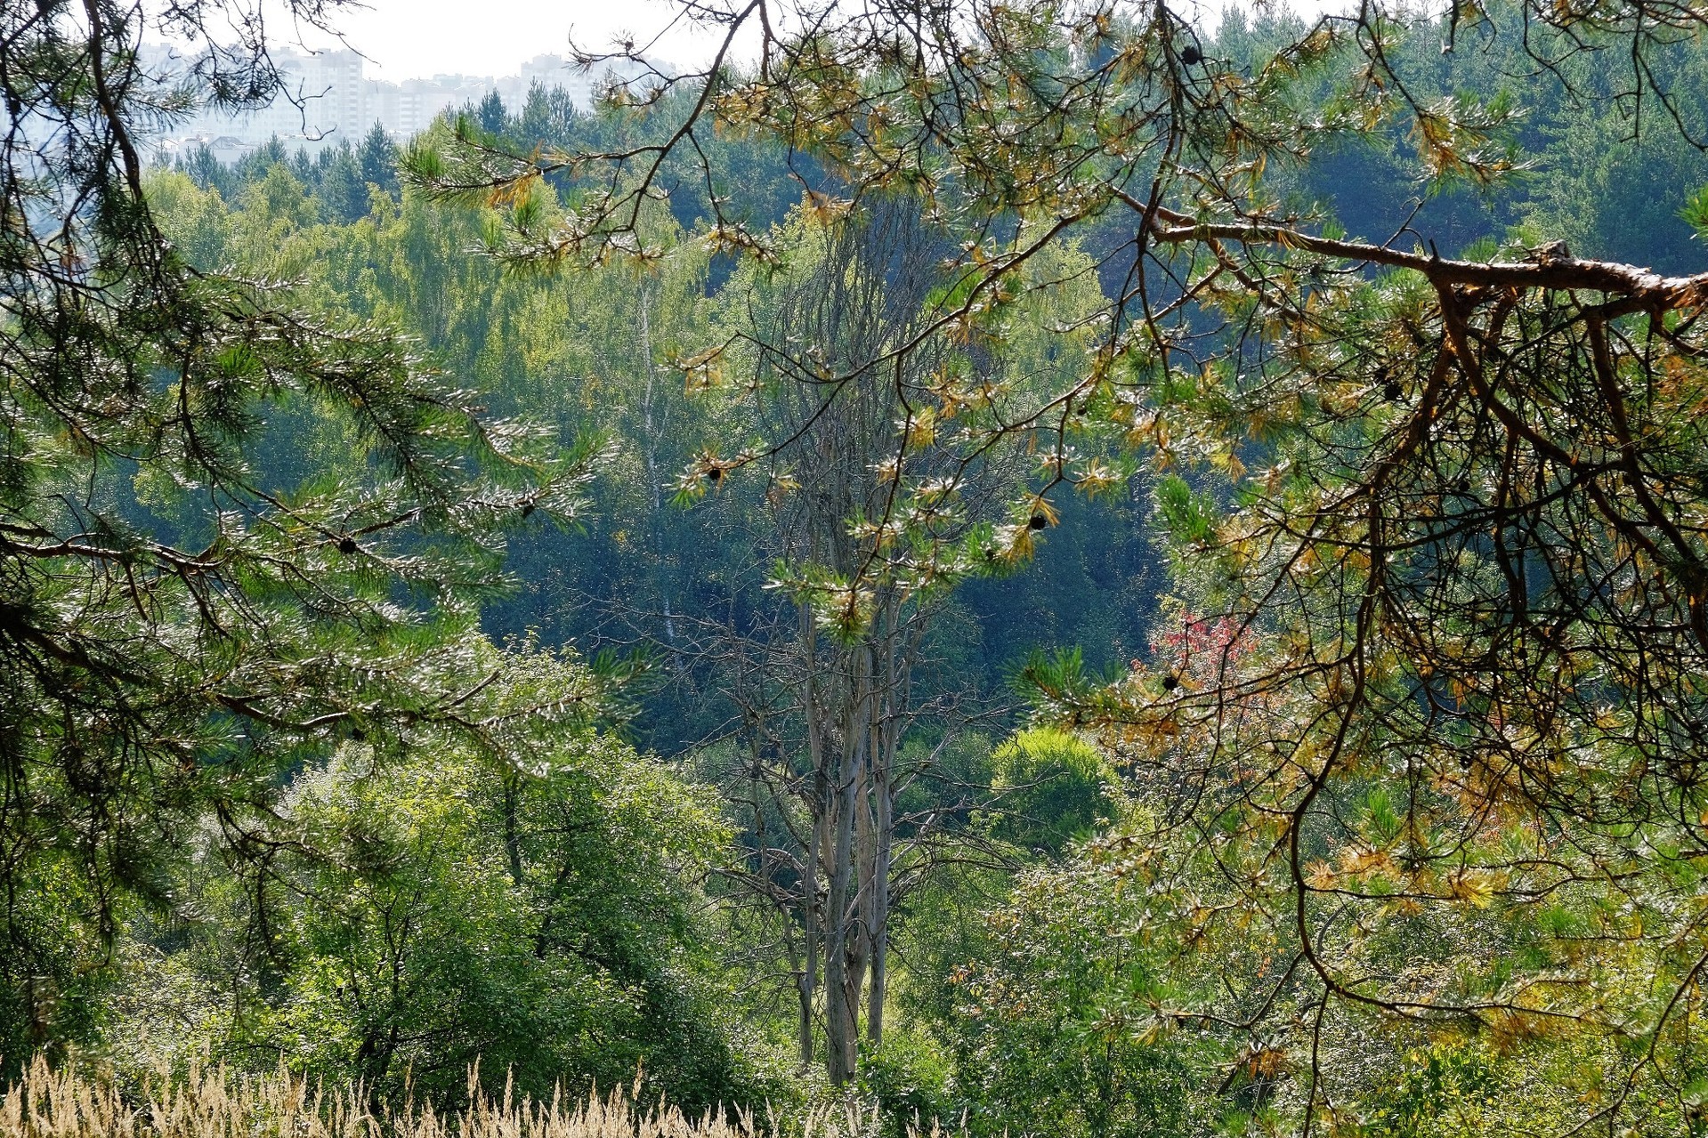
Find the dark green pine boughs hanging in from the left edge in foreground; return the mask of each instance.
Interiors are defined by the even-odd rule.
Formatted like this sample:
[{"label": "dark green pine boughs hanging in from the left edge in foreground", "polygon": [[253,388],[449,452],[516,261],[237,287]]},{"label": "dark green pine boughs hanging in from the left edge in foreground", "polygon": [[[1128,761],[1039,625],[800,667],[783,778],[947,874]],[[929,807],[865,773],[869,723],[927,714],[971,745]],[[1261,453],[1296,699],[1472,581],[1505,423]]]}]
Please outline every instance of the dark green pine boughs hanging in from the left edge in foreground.
[{"label": "dark green pine boughs hanging in from the left edge in foreground", "polygon": [[[265,103],[282,82],[265,44],[207,34],[243,15],[225,9],[162,19],[207,44],[205,97]],[[12,1063],[91,1029],[118,930],[138,909],[173,912],[193,842],[265,854],[256,825],[285,771],[348,738],[459,738],[519,762],[531,735],[582,714],[557,695],[541,714],[483,697],[473,610],[499,526],[562,514],[576,472],[531,429],[482,420],[393,330],[183,260],[135,135],[179,99],[126,46],[143,19],[116,3],[0,9]],[[282,147],[265,150],[272,185],[251,193],[301,207]],[[309,427],[340,439],[335,468],[280,461]]]}]

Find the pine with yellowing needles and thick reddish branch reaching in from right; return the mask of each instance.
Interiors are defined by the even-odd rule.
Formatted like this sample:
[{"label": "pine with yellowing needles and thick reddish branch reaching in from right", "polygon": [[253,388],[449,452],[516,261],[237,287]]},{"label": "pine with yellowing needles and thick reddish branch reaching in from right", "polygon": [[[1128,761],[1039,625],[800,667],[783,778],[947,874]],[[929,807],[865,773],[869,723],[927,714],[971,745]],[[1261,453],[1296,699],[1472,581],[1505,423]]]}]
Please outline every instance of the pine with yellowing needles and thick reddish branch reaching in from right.
[{"label": "pine with yellowing needles and thick reddish branch reaching in from right", "polygon": [[[531,263],[656,255],[635,217],[680,185],[676,162],[702,174],[707,244],[777,258],[709,157],[719,133],[803,155],[811,210],[912,202],[960,249],[950,287],[866,359],[813,367],[816,345],[769,345],[818,391],[902,374],[938,333],[999,350],[1027,296],[1057,287],[1025,282],[1044,251],[1122,234],[1102,313],[1054,328],[1095,333],[1069,381],[994,414],[984,369],[943,367],[910,407],[939,427],[898,439],[893,525],[847,519],[864,567],[822,610],[898,566],[927,588],[1023,555],[1027,523],[931,545],[953,475],[907,477],[926,448],[958,446],[967,470],[1028,439],[1016,507],[1117,482],[1097,439],[1168,475],[1156,506],[1190,601],[1115,683],[1073,661],[1028,680],[1127,760],[1155,825],[1122,837],[1122,871],[1179,899],[1182,955],[1257,923],[1278,965],[1202,1003],[1158,998],[1143,1030],[1240,1025],[1303,1133],[1356,1123],[1322,1041],[1366,1022],[1500,1046],[1573,1034],[1614,1056],[1583,1111],[1597,1126],[1699,1112],[1708,272],[1582,260],[1553,234],[1465,256],[1409,224],[1348,236],[1291,176],[1331,142],[1404,137],[1407,195],[1506,178],[1517,101],[1423,62],[1489,39],[1568,89],[1595,72],[1640,130],[1699,138],[1693,87],[1657,75],[1708,9],[1365,0],[1271,21],[1267,46],[1225,58],[1167,3],[690,7],[722,51],[649,80],[681,97],[658,99],[644,142],[509,154],[461,130],[412,176],[518,203],[535,179],[579,178],[562,217],[514,210],[502,251]],[[1691,186],[1670,190],[1682,205]],[[1372,215],[1407,215],[1389,205]],[[685,355],[688,378],[728,352]],[[789,441],[748,444],[719,477]],[[1455,936],[1476,964],[1447,976],[1428,950]]]}]

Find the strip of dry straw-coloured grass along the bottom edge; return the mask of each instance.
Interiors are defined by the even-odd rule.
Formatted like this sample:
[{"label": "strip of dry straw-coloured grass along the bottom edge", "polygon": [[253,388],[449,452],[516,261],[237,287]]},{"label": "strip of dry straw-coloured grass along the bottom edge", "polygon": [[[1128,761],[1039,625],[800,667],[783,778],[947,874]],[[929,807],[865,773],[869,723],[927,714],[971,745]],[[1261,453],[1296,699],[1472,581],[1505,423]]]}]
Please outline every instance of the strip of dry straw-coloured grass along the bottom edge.
[{"label": "strip of dry straw-coloured grass along the bottom edge", "polygon": [[[36,1059],[0,1099],[3,1138],[868,1138],[876,1116],[859,1106],[822,1109],[793,1126],[752,1114],[692,1119],[668,1106],[640,1107],[623,1090],[565,1102],[475,1092],[473,1106],[374,1109],[360,1087],[325,1088],[277,1071],[193,1070],[126,1097],[108,1080]],[[936,1131],[933,1131],[934,1135]]]}]

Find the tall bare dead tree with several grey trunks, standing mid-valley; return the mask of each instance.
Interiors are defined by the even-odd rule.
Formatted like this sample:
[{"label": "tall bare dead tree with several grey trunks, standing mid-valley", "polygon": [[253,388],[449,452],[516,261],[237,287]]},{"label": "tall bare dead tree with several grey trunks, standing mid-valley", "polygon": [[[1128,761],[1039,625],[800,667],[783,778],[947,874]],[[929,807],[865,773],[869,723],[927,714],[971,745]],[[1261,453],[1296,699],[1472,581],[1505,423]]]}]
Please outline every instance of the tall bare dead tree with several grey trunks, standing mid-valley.
[{"label": "tall bare dead tree with several grey trunks, standing mid-valley", "polygon": [[[782,919],[801,1061],[816,1059],[822,1017],[834,1083],[854,1075],[863,1024],[869,1046],[883,1037],[897,894],[948,837],[945,820],[965,815],[948,800],[970,789],[897,812],[904,788],[936,774],[929,757],[902,760],[909,728],[967,695],[941,677],[917,683],[943,593],[909,576],[888,540],[907,497],[893,463],[917,434],[910,407],[968,350],[919,335],[939,246],[905,200],[803,220],[796,263],[757,279],[743,314],[762,432],[786,439],[762,514],[784,566],[774,584],[794,601],[738,637],[745,666],[726,685],[745,738],[734,796],[750,812],[736,880]],[[974,525],[979,487],[996,502],[1001,482],[997,463],[953,473],[965,489],[945,540]]]}]

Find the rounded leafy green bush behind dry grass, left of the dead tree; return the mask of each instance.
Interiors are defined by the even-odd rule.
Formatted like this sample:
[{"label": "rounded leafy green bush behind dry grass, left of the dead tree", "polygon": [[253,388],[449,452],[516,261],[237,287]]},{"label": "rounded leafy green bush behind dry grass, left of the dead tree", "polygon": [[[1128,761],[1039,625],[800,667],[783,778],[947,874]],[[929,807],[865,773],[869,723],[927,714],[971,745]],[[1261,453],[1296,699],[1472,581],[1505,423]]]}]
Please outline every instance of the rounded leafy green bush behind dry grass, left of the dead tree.
[{"label": "rounded leafy green bush behind dry grass, left of the dead tree", "polygon": [[[526,666],[555,672],[535,680],[547,687],[572,668]],[[191,904],[214,919],[188,945],[138,945],[108,1053],[140,1071],[198,1047],[277,1056],[395,1099],[405,1083],[458,1099],[477,1059],[488,1090],[514,1080],[535,1097],[637,1075],[685,1106],[750,1097],[702,950],[695,882],[728,841],[717,803],[608,738],[538,762],[350,745],[299,774],[265,871],[200,878]],[[222,972],[244,928],[263,936],[254,971]],[[229,1003],[161,1051],[150,1020],[203,988]]]}]

